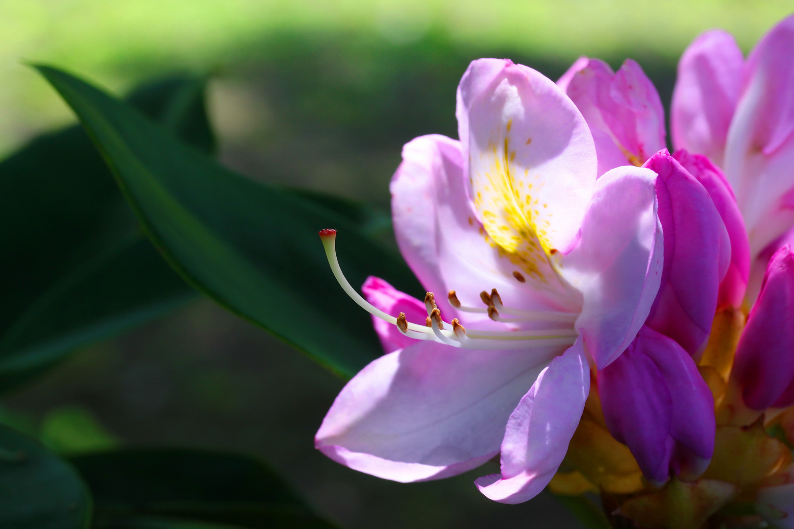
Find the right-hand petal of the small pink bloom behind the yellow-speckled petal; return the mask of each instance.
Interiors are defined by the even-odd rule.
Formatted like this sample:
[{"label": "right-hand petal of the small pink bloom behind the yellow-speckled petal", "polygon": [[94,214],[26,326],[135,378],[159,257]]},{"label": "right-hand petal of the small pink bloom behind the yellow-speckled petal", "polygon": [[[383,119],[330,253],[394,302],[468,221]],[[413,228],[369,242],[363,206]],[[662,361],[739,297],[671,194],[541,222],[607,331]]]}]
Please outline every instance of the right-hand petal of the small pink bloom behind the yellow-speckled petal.
[{"label": "right-hand petal of the small pink bloom behind the yellow-speckled petal", "polygon": [[[623,136],[623,147],[636,155],[639,163],[665,148],[665,109],[656,86],[653,86],[640,65],[626,59],[612,79],[609,91],[615,102],[634,114],[634,126],[627,127],[629,130]],[[610,118],[607,117],[607,123],[615,130],[618,124],[611,123]]]}]

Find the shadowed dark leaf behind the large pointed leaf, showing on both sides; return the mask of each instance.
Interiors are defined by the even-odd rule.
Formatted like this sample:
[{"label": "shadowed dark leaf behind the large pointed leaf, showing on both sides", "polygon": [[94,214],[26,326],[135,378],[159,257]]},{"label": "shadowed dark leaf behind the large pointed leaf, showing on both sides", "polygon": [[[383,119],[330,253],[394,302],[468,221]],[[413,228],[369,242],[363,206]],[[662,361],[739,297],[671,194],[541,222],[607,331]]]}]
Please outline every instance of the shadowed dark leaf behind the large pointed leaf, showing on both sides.
[{"label": "shadowed dark leaf behind the large pointed leaf, showing on both sides", "polygon": [[[206,151],[214,138],[204,82],[168,79],[129,98]],[[70,351],[140,324],[195,291],[138,227],[79,125],[41,136],[0,163],[0,391]]]}]

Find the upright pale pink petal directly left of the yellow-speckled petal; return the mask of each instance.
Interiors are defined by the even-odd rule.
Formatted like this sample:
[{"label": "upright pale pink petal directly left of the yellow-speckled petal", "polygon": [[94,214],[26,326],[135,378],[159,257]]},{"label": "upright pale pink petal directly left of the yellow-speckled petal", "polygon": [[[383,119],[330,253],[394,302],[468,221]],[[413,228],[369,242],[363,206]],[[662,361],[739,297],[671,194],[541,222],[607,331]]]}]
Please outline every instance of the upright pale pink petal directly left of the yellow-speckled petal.
[{"label": "upright pale pink petal directly left of the yellow-speckled petal", "polygon": [[[516,266],[488,243],[468,199],[461,144],[445,136],[420,136],[403,148],[403,163],[391,180],[391,212],[400,251],[445,320],[494,328],[488,316],[458,313],[446,293],[464,305],[484,307],[480,292],[499,289],[505,303],[542,308],[531,285],[518,282]],[[561,307],[555,307],[561,308]]]}]

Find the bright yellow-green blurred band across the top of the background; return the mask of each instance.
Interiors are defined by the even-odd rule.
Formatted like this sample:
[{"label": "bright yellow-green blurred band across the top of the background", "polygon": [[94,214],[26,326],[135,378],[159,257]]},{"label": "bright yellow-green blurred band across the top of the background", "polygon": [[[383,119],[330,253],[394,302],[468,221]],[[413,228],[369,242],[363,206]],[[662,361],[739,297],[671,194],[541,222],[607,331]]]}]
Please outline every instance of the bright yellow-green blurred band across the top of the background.
[{"label": "bright yellow-green blurred band across the top of the background", "polygon": [[675,59],[722,27],[745,50],[790,0],[6,0],[0,2],[0,152],[70,118],[21,61],[43,61],[113,89],[159,71],[211,71],[269,33],[354,34],[410,44],[428,33],[461,48]]}]

